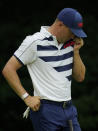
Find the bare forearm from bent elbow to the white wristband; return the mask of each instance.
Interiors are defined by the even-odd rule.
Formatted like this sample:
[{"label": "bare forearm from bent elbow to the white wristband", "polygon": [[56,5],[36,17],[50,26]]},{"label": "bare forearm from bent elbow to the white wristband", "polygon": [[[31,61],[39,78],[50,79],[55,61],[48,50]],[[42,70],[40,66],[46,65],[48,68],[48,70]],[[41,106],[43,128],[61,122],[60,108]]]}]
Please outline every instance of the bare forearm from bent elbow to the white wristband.
[{"label": "bare forearm from bent elbow to the white wristband", "polygon": [[16,92],[16,94],[21,98],[21,96],[26,93],[26,90],[23,88],[17,72],[10,67],[9,65],[3,69],[3,75],[11,88]]}]

